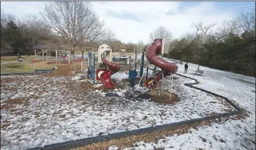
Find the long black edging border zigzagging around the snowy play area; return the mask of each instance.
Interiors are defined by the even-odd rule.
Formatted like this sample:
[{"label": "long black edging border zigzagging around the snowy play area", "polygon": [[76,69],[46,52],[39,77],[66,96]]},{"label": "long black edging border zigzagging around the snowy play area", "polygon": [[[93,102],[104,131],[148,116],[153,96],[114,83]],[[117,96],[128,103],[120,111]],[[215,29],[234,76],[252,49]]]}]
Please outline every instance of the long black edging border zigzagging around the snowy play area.
[{"label": "long black edging border zigzagging around the snowy play area", "polygon": [[[181,75],[179,73],[176,73],[176,74],[180,75],[181,77],[186,77],[188,79],[193,79],[191,77],[187,77],[187,76]],[[237,115],[237,114],[243,112],[243,109],[241,109],[240,107],[235,105],[235,103],[233,103],[227,97],[224,97],[222,95],[218,95],[216,93],[213,93],[211,91],[207,91],[205,89],[201,89],[199,87],[194,87],[193,85],[198,85],[199,81],[197,81],[197,79],[193,79],[193,80],[195,81],[195,83],[185,83],[185,85],[188,86],[188,87],[199,89],[200,91],[204,91],[205,93],[209,93],[211,95],[221,97],[221,98],[225,99],[229,104],[231,104],[236,110],[232,111],[232,112],[229,112],[229,113],[219,113],[217,115],[211,115],[211,116],[201,117],[201,118],[197,118],[197,119],[180,121],[180,122],[177,122],[177,123],[169,123],[169,124],[165,124],[165,125],[156,125],[155,127],[146,127],[146,128],[143,128],[143,129],[123,131],[123,132],[120,132],[120,133],[111,133],[111,134],[108,134],[108,135],[88,137],[88,138],[85,138],[85,139],[77,139],[77,140],[67,141],[67,142],[63,142],[63,143],[55,143],[55,144],[45,145],[44,147],[35,147],[35,148],[32,148],[32,149],[26,149],[26,150],[57,150],[57,149],[69,150],[69,149],[73,149],[73,148],[77,148],[77,147],[84,147],[86,145],[91,145],[93,143],[100,143],[100,142],[103,142],[103,141],[109,141],[111,139],[119,139],[121,137],[128,137],[128,136],[131,136],[131,135],[139,135],[141,133],[153,133],[155,131],[159,131],[161,129],[167,129],[169,127],[176,127],[176,126],[179,126],[179,125],[189,125],[191,123],[196,123],[196,122],[199,122],[199,121],[207,121],[209,119],[219,119],[220,117]]]}]

